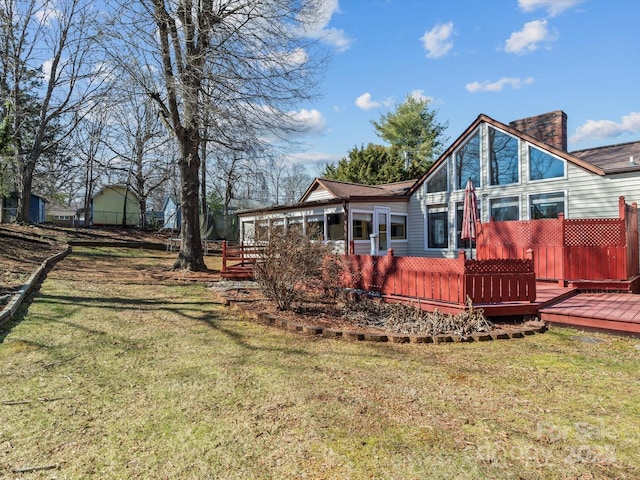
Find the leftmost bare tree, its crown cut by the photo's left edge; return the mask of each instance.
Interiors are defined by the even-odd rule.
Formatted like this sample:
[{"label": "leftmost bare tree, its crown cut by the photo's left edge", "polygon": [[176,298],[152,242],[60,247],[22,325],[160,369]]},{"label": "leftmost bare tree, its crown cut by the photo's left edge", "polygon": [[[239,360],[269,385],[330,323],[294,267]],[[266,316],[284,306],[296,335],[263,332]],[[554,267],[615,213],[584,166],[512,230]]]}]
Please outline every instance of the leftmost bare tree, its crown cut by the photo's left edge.
[{"label": "leftmost bare tree, its crown cut by the photo's left edge", "polygon": [[92,5],[83,0],[2,1],[0,89],[13,110],[19,222],[29,218],[41,155],[73,131],[102,80],[91,48]]}]

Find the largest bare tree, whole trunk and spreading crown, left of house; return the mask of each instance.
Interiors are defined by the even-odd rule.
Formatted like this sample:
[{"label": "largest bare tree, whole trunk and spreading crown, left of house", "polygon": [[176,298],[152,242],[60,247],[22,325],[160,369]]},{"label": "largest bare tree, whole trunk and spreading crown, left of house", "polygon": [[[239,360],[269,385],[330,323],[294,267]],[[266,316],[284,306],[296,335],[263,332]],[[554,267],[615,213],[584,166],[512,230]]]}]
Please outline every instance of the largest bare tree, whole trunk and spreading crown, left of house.
[{"label": "largest bare tree, whole trunk and spreading crown, left of house", "polygon": [[320,0],[141,0],[116,12],[116,60],[137,75],[180,150],[183,248],[176,268],[206,268],[199,229],[205,123],[209,141],[231,150],[242,146],[219,127],[229,121],[253,138],[299,128],[286,112],[315,92],[324,55],[315,54],[319,44],[305,26],[322,8]]}]

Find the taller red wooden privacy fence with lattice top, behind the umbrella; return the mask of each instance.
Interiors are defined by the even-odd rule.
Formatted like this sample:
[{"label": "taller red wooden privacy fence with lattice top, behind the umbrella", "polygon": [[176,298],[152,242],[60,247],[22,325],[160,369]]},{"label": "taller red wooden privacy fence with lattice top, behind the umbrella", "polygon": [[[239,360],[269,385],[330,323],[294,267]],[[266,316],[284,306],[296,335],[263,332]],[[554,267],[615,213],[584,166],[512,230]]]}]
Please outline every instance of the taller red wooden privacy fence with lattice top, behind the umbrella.
[{"label": "taller red wooden privacy fence with lattice top, behind the umbrella", "polygon": [[638,208],[619,201],[620,218],[488,222],[478,225],[477,257],[526,258],[540,280],[628,280],[639,274]]}]

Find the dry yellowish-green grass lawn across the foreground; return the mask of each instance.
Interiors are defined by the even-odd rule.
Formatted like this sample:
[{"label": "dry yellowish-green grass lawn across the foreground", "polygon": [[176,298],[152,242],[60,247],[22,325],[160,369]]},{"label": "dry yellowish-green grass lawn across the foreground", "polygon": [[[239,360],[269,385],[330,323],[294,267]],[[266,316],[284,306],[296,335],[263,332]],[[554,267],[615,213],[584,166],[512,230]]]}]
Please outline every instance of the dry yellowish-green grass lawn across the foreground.
[{"label": "dry yellowish-green grass lawn across the foreground", "polygon": [[174,255],[74,248],[0,327],[0,478],[640,478],[638,339],[307,337]]}]

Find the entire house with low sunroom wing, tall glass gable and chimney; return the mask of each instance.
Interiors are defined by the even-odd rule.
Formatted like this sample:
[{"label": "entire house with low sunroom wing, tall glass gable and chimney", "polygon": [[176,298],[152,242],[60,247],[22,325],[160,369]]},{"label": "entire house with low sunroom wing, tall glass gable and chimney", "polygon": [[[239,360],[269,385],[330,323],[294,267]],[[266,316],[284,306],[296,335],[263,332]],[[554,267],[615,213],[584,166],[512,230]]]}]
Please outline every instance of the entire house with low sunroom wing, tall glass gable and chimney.
[{"label": "entire house with low sunroom wing, tall glass gable and chimney", "polygon": [[381,255],[391,247],[396,255],[454,258],[469,247],[460,239],[469,179],[481,222],[617,218],[621,196],[640,203],[640,141],[568,152],[560,110],[509,124],[480,115],[417,181],[316,179],[295,205],[238,212],[240,239],[263,240],[266,227],[317,226],[341,252],[370,253],[373,234]]}]

